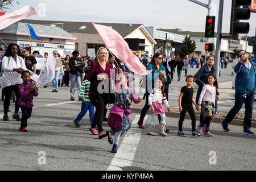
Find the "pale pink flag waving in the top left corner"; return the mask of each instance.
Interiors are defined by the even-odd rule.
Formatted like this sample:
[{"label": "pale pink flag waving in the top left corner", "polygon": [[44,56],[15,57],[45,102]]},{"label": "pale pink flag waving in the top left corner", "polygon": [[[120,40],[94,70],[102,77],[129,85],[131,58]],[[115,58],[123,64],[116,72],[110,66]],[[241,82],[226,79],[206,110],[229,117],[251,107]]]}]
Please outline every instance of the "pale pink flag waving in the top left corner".
[{"label": "pale pink flag waving in the top left corner", "polygon": [[8,27],[10,24],[18,22],[19,20],[25,19],[28,16],[37,15],[38,11],[32,6],[24,6],[19,10],[13,11],[12,13],[0,16],[0,30]]}]

